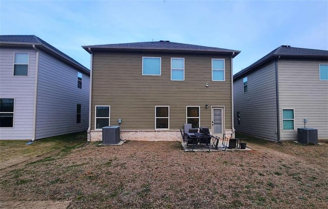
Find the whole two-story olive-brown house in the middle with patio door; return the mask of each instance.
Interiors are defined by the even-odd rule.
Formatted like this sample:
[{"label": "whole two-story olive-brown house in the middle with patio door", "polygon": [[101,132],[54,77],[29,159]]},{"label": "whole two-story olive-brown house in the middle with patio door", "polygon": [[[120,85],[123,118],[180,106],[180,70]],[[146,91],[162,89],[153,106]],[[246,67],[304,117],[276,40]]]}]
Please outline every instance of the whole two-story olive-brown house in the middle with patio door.
[{"label": "whole two-story olive-brown house in the middle with patio door", "polygon": [[89,140],[181,140],[178,128],[233,132],[232,59],[239,51],[170,41],[84,46],[92,57]]}]

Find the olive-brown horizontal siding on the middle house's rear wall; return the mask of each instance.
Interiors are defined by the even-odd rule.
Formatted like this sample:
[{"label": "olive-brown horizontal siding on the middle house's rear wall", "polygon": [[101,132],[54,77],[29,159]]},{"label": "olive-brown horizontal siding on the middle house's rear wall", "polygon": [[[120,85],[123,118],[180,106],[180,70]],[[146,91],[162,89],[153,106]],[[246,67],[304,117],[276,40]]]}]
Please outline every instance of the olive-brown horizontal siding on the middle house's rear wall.
[{"label": "olive-brown horizontal siding on the middle house's rear wall", "polygon": [[[161,76],[141,75],[142,56],[161,57]],[[171,57],[185,58],[184,81],[171,81]],[[226,59],[226,81],[212,81],[212,58]],[[110,125],[120,118],[122,130],[154,130],[155,106],[170,106],[171,130],[186,123],[186,106],[200,106],[200,125],[207,127],[211,106],[224,106],[232,128],[230,56],[95,52],[92,79],[92,130],[99,105],[111,106]]]}]

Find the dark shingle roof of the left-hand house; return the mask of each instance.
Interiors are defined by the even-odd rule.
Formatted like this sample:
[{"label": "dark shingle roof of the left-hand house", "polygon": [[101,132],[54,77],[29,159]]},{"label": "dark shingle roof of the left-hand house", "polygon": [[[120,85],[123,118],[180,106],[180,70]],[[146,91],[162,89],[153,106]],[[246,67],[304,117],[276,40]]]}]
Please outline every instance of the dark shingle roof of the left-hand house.
[{"label": "dark shingle roof of the left-hand house", "polygon": [[63,57],[67,61],[71,62],[71,64],[74,64],[81,70],[84,70],[85,72],[90,74],[90,70],[88,68],[84,67],[72,57],[59,51],[58,49],[35,35],[0,35],[0,46],[1,45],[35,45],[36,47],[41,46],[46,50],[49,50],[59,55],[60,57]]}]

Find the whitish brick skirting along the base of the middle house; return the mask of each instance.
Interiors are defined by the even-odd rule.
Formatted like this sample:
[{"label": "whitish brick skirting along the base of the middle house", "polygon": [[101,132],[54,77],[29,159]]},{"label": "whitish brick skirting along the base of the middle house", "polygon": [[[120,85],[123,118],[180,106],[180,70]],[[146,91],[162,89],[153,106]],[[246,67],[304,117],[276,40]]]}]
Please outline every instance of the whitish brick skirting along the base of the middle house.
[{"label": "whitish brick skirting along the base of the middle house", "polygon": [[[231,134],[231,129],[226,129],[226,134]],[[89,139],[90,137],[90,139]],[[121,140],[132,140],[132,141],[181,141],[180,130],[121,130]],[[235,134],[233,133],[233,138]],[[102,141],[103,131],[90,131],[88,133],[88,139],[90,141]]]}]

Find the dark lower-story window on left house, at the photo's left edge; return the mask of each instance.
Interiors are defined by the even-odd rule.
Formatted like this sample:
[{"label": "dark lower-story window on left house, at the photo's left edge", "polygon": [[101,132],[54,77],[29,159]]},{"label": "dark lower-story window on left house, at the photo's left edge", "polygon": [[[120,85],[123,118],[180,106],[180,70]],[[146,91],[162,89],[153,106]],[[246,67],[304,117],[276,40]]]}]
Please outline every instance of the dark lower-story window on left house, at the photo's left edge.
[{"label": "dark lower-story window on left house, at the photo's left edge", "polygon": [[0,99],[0,128],[14,127],[14,99]]}]

